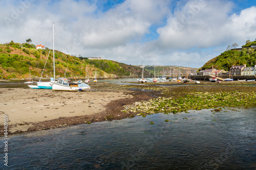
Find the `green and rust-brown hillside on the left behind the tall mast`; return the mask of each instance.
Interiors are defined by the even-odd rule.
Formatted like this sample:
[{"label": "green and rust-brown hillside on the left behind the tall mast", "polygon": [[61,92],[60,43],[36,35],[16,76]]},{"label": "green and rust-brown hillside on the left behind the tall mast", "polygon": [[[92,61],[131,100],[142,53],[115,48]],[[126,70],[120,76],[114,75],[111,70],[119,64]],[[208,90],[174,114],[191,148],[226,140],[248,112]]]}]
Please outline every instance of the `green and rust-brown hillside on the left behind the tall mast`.
[{"label": "green and rust-brown hillside on the left behind the tall mast", "polygon": [[[49,57],[48,57],[49,56]],[[53,51],[36,49],[33,44],[14,43],[0,44],[0,79],[28,79],[53,77]],[[47,61],[47,62],[46,62]],[[90,78],[141,77],[142,68],[126,65],[111,60],[88,60],[55,51],[55,74],[57,77],[84,78],[86,69]],[[145,75],[149,75],[144,71]]]}]

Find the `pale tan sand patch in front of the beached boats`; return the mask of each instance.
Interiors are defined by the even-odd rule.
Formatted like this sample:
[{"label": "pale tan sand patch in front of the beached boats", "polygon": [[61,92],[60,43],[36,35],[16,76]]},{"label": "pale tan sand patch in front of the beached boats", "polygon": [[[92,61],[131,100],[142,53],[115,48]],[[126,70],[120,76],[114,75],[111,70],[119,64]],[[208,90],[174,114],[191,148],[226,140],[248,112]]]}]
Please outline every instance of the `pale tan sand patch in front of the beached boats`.
[{"label": "pale tan sand patch in front of the beached boats", "polygon": [[132,98],[121,92],[56,92],[29,88],[0,88],[0,95],[0,125],[4,125],[4,115],[8,115],[11,133],[26,131],[32,123],[59,117],[97,114],[115,100]]}]

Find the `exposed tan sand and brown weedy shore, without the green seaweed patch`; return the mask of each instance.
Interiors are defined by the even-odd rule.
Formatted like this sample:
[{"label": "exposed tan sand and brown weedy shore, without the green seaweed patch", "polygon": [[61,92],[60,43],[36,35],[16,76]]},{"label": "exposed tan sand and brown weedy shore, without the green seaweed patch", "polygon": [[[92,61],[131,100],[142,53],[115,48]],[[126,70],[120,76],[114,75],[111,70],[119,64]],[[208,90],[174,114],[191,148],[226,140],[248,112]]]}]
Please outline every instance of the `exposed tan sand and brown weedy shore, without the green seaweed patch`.
[{"label": "exposed tan sand and brown weedy shore, without the green seaweed patch", "polygon": [[4,135],[4,115],[8,115],[10,121],[8,122],[8,134],[20,134],[134,117],[139,112],[124,112],[123,106],[158,97],[178,99],[192,91],[253,92],[253,90],[256,91],[256,87],[226,84],[161,87],[108,83],[97,83],[94,84],[93,89],[81,92],[0,88],[3,96],[0,99],[0,119],[3,120],[0,123],[0,136]]}]

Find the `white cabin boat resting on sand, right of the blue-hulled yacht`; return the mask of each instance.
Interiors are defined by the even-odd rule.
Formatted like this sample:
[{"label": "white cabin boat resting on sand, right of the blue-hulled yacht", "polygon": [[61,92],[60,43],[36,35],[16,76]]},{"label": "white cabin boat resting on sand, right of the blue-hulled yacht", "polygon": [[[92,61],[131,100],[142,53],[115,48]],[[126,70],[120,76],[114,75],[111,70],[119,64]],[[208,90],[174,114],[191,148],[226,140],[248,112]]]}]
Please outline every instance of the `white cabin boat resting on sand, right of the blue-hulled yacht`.
[{"label": "white cabin boat resting on sand, right of the blue-hulled yacht", "polygon": [[86,83],[71,83],[66,78],[58,78],[57,82],[52,84],[53,91],[82,91],[90,88],[90,85]]}]

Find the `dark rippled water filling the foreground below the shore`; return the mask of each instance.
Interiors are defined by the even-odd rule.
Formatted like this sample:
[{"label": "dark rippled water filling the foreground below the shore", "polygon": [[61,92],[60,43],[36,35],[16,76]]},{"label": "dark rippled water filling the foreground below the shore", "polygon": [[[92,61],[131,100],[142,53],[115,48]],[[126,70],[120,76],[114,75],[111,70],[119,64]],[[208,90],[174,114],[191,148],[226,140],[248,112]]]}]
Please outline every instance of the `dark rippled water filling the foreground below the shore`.
[{"label": "dark rippled water filling the foreground below the shore", "polygon": [[2,155],[0,169],[255,169],[256,108],[237,110],[158,113],[12,135],[8,168]]}]

